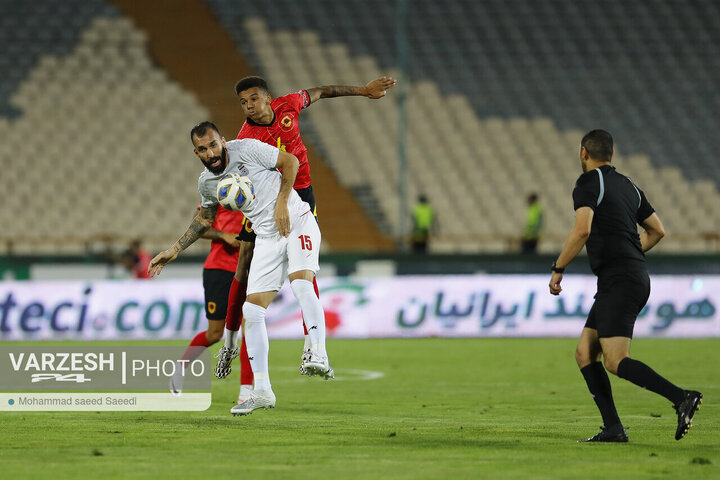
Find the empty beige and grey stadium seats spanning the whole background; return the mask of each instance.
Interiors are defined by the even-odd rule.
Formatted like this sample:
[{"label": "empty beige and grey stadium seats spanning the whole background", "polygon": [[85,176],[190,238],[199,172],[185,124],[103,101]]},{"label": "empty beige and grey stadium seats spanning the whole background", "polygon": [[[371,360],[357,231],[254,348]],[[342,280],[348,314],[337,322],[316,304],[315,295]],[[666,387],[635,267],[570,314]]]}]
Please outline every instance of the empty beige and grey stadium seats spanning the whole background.
[{"label": "empty beige and grey stadium seats spanning the whole background", "polygon": [[[659,211],[669,232],[661,251],[720,249],[717,2],[407,3],[403,174],[410,200],[426,193],[438,211],[433,251],[513,251],[531,191],[539,191],[546,212],[541,251],[559,249],[572,223],[578,143],[591,128],[614,134],[614,163]],[[201,5],[275,94],[397,74],[394,2]],[[135,8],[137,15],[144,8]],[[7,138],[0,142],[0,246],[15,254],[81,254],[112,239],[144,237],[151,250],[166,247],[198,201],[188,182],[199,173],[188,125],[215,116],[216,104],[229,98],[220,86],[198,94],[207,72],[195,84],[178,80],[192,65],[188,39],[174,39],[191,22],[181,22],[163,45],[178,44],[173,62],[187,62],[181,75],[164,63],[157,40],[150,45],[143,18],[132,20],[110,0],[0,0],[0,11],[0,129]],[[314,170],[318,187],[328,179],[333,198],[319,199],[325,221],[357,208],[349,190],[385,233],[409,223],[399,214],[394,95],[323,101],[303,114],[311,151],[332,167]],[[230,125],[234,113],[217,115]],[[339,244],[387,247],[375,233],[377,241],[355,238],[377,230],[367,226],[368,215],[355,213],[357,221],[332,232]],[[328,233],[340,225],[331,223],[323,227]]]}]

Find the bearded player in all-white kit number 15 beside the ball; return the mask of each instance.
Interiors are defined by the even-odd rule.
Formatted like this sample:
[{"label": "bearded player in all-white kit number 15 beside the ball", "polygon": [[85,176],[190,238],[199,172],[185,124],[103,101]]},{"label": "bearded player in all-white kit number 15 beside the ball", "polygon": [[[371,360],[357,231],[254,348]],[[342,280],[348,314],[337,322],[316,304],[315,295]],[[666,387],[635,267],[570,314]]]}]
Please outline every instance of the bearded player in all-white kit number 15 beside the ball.
[{"label": "bearded player in all-white kit number 15 beside the ball", "polygon": [[257,240],[243,316],[255,386],[250,397],[231,410],[233,415],[247,415],[258,408],[275,406],[268,373],[265,313],[286,275],[311,337],[312,354],[306,368],[317,375],[327,374],[330,369],[325,350],[325,314],[312,284],[319,270],[320,229],[310,206],[293,190],[298,171],[294,155],[255,139],[225,142],[211,122],[193,127],[190,138],[195,154],[205,165],[198,180],[200,213],[172,247],[152,259],[148,272],[151,276],[159,274],[212,225],[218,209],[217,185],[223,176],[237,173],[250,178],[255,199],[242,212],[252,222]]}]

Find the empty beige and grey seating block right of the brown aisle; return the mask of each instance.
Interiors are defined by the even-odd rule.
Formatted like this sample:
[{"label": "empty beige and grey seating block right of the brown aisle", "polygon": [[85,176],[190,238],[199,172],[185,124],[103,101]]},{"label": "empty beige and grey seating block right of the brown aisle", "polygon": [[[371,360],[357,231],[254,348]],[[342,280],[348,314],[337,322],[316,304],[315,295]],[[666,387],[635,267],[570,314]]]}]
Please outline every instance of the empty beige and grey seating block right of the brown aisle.
[{"label": "empty beige and grey seating block right of the brown aisle", "polygon": [[[393,4],[208,0],[275,92],[392,73]],[[508,251],[525,194],[546,207],[545,251],[572,222],[578,144],[610,130],[614,162],[671,233],[661,249],[717,248],[720,12],[709,0],[408,2],[410,198],[437,208],[435,251]],[[398,222],[397,113],[340,100],[309,109],[316,144],[377,216]]]}]

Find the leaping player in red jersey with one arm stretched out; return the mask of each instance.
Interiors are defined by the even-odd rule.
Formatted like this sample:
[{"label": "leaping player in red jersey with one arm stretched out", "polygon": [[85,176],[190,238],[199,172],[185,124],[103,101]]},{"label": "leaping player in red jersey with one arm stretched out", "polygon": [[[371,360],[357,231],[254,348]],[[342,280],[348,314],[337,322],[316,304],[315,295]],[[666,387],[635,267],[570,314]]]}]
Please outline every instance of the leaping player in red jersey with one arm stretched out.
[{"label": "leaping player in red jersey with one arm stretched out", "polygon": [[[246,77],[235,85],[235,93],[240,97],[240,105],[246,115],[245,123],[240,129],[237,138],[255,138],[262,142],[269,143],[274,147],[295,155],[300,167],[295,179],[294,188],[300,198],[310,205],[310,208],[317,217],[315,206],[315,195],[313,194],[310,165],[307,158],[307,148],[300,137],[298,117],[300,112],[309,107],[313,102],[321,98],[334,98],[345,96],[364,96],[371,99],[379,99],[385,96],[386,91],[397,83],[389,77],[377,78],[364,86],[330,85],[315,87],[308,90],[300,90],[282,97],[273,99],[267,82],[260,77]],[[243,253],[246,263],[239,262],[233,285],[228,298],[228,315],[226,318],[226,329],[229,332],[237,331],[240,328],[241,313],[238,302],[242,305],[244,301],[243,291],[245,285],[241,282],[247,277],[247,270],[252,259],[252,245],[243,244],[241,251],[250,249],[247,254]],[[318,293],[317,282],[314,282],[315,293]],[[229,344],[230,335],[225,337],[226,347],[233,348]],[[235,334],[237,338],[237,334]],[[244,343],[244,342],[243,342]],[[305,348],[303,349],[300,372],[305,374],[304,362],[309,351],[309,340],[305,331]],[[232,361],[230,358],[229,361]],[[229,365],[228,361],[228,365]],[[246,372],[250,372],[249,375]],[[332,370],[331,370],[332,372]],[[228,369],[229,373],[229,369]],[[243,358],[241,353],[241,385],[252,383],[252,370],[249,361]]]}]

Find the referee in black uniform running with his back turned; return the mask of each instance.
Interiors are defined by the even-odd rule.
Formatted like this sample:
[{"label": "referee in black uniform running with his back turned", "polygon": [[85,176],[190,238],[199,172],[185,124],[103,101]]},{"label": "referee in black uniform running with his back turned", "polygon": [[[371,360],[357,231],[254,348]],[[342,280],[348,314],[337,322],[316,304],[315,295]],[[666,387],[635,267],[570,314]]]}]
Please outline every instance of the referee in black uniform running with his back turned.
[{"label": "referee in black uniform running with his back turned", "polygon": [[[644,363],[630,358],[630,341],[650,295],[645,253],[665,235],[645,194],[610,165],[612,136],[593,130],[581,142],[583,174],[573,190],[575,225],[552,266],[550,293],[559,295],[565,267],[587,243],[590,268],[598,277],[595,302],[580,335],[575,359],[600,410],[604,426],[583,442],[627,442],[605,368],[620,378],[662,395],[678,415],[675,439],[685,436],[702,394],[683,390]],[[637,224],[644,231],[637,233]],[[601,363],[605,359],[605,368]]]}]

